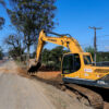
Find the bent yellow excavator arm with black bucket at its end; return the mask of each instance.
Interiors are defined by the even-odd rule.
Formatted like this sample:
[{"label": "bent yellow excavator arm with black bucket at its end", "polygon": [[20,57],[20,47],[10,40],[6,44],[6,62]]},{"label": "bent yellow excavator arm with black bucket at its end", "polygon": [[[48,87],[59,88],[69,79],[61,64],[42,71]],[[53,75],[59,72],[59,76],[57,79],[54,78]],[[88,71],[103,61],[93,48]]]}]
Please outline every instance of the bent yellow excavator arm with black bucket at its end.
[{"label": "bent yellow excavator arm with black bucket at its end", "polygon": [[66,47],[68,49],[70,49],[70,51],[72,53],[83,52],[83,50],[76,39],[74,39],[73,37],[68,37],[65,35],[60,35],[60,36],[61,37],[46,36],[46,33],[44,29],[39,33],[38,45],[37,45],[37,49],[36,49],[36,58],[35,58],[36,65],[32,66],[28,70],[28,72],[31,72],[32,69],[34,71],[37,71],[38,68],[40,66],[41,50],[43,50],[46,41]]}]

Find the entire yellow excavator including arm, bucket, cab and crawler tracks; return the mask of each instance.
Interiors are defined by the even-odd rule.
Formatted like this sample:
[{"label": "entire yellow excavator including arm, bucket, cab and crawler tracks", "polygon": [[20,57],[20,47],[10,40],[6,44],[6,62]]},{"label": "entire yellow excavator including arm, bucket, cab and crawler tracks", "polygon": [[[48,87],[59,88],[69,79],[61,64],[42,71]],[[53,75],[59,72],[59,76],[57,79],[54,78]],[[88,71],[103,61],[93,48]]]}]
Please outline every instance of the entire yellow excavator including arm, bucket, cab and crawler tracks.
[{"label": "entire yellow excavator including arm, bucket, cab and crawler tracks", "polygon": [[[95,109],[102,109],[104,97],[101,94],[108,97],[109,92],[109,66],[97,66],[94,64],[92,55],[84,52],[78,41],[72,36],[68,34],[50,34],[57,36],[47,36],[44,29],[39,33],[35,58],[36,62],[34,63],[35,65],[31,66],[28,73],[34,75],[40,68],[41,51],[45,43],[63,46],[68,48],[70,52],[63,55],[61,60],[61,87],[77,92],[76,94],[87,99]],[[90,87],[93,87],[94,90],[90,89]],[[102,89],[105,89],[105,92]],[[100,93],[98,93],[98,90],[100,90]]]}]

